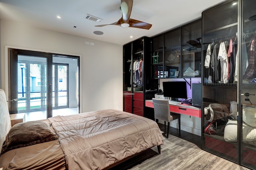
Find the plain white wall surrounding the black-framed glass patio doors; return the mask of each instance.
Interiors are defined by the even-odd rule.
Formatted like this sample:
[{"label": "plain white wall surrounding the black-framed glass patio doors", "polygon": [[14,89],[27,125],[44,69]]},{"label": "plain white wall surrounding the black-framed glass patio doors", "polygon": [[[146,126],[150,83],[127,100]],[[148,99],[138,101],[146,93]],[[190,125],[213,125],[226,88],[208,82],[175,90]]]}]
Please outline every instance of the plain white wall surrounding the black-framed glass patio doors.
[{"label": "plain white wall surrounding the black-framed glass patio doors", "polygon": [[[80,111],[108,108],[122,110],[122,45],[31,27],[23,23],[6,20],[0,22],[0,88],[8,90],[7,47],[78,55],[81,56]],[[86,45],[86,41],[95,45]]]}]

